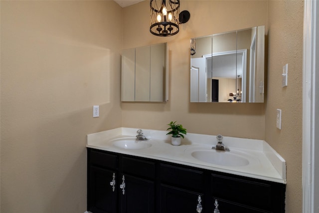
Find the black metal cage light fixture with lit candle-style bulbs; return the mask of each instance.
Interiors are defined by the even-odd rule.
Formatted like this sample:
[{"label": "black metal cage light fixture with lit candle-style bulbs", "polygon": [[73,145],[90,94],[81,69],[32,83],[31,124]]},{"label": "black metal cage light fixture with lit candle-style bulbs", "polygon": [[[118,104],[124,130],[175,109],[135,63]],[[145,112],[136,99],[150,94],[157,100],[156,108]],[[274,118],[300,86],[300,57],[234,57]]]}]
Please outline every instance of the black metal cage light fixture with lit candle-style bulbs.
[{"label": "black metal cage light fixture with lit candle-style bulbs", "polygon": [[179,31],[179,24],[190,17],[187,10],[179,13],[179,0],[151,0],[150,32],[158,36],[171,36]]}]

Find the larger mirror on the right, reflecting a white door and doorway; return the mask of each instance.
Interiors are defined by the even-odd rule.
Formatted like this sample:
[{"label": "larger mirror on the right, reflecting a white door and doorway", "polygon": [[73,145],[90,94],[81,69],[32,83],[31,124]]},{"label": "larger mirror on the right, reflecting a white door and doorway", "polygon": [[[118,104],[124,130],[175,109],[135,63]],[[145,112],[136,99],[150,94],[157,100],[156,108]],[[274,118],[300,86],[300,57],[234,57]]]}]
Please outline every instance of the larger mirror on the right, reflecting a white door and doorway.
[{"label": "larger mirror on the right, reflecting a white door and doorway", "polygon": [[190,41],[190,102],[264,102],[265,26]]}]

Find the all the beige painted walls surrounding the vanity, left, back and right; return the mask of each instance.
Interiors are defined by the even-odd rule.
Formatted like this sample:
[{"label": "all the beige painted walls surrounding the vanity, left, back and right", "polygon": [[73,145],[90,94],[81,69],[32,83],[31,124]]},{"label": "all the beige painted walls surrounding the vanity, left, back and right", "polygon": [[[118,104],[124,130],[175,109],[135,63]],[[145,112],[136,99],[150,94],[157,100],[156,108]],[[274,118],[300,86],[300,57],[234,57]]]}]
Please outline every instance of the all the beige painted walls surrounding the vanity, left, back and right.
[{"label": "all the beige painted walls surrounding the vanity, left, back and right", "polygon": [[[161,38],[149,32],[148,1],[124,9],[113,1],[0,1],[3,213],[85,212],[86,134],[165,130],[171,120],[192,133],[265,139],[287,161],[286,212],[302,212],[303,2],[181,0],[184,9],[190,20]],[[189,103],[189,38],[255,25],[269,29],[266,103]],[[170,48],[169,102],[121,103],[121,49],[160,42]]]}]

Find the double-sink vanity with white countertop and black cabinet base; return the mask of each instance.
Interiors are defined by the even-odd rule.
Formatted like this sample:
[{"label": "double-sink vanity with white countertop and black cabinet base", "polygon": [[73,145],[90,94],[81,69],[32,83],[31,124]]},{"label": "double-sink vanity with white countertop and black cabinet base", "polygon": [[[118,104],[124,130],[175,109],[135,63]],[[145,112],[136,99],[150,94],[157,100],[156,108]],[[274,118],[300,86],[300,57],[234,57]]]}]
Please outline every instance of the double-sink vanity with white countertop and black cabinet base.
[{"label": "double-sink vanity with white countertop and black cabinet base", "polygon": [[[269,161],[259,159],[258,164],[263,164],[260,168],[263,171],[257,171],[258,169],[253,171],[254,168],[258,168],[258,165],[251,163],[255,157],[247,158],[250,166],[199,163],[195,158],[190,158],[189,153],[205,149],[210,145],[195,144],[191,141],[195,138],[205,141],[205,138],[210,139],[210,136],[187,134],[189,141],[174,147],[163,140],[166,136],[162,133],[164,131],[153,130],[145,133],[149,138],[145,143],[150,143],[151,146],[138,149],[132,147],[126,149],[117,143],[123,138],[131,143],[129,138],[134,138],[133,129],[119,128],[88,135],[88,211],[93,213],[285,212],[286,180],[285,176],[280,177],[284,175],[280,173],[285,170],[280,171],[283,165],[280,165],[278,159]],[[235,140],[237,145],[228,140],[234,139],[225,137],[224,143],[229,144],[230,152],[232,150],[235,152],[240,140]],[[251,143],[254,142],[248,142],[246,145],[251,147]],[[264,151],[269,152],[265,147]],[[257,155],[261,156],[261,153]],[[267,155],[274,157],[269,153]],[[279,157],[279,160],[283,159]],[[276,168],[271,168],[273,164],[275,165],[273,167],[278,167],[279,172]]]}]

